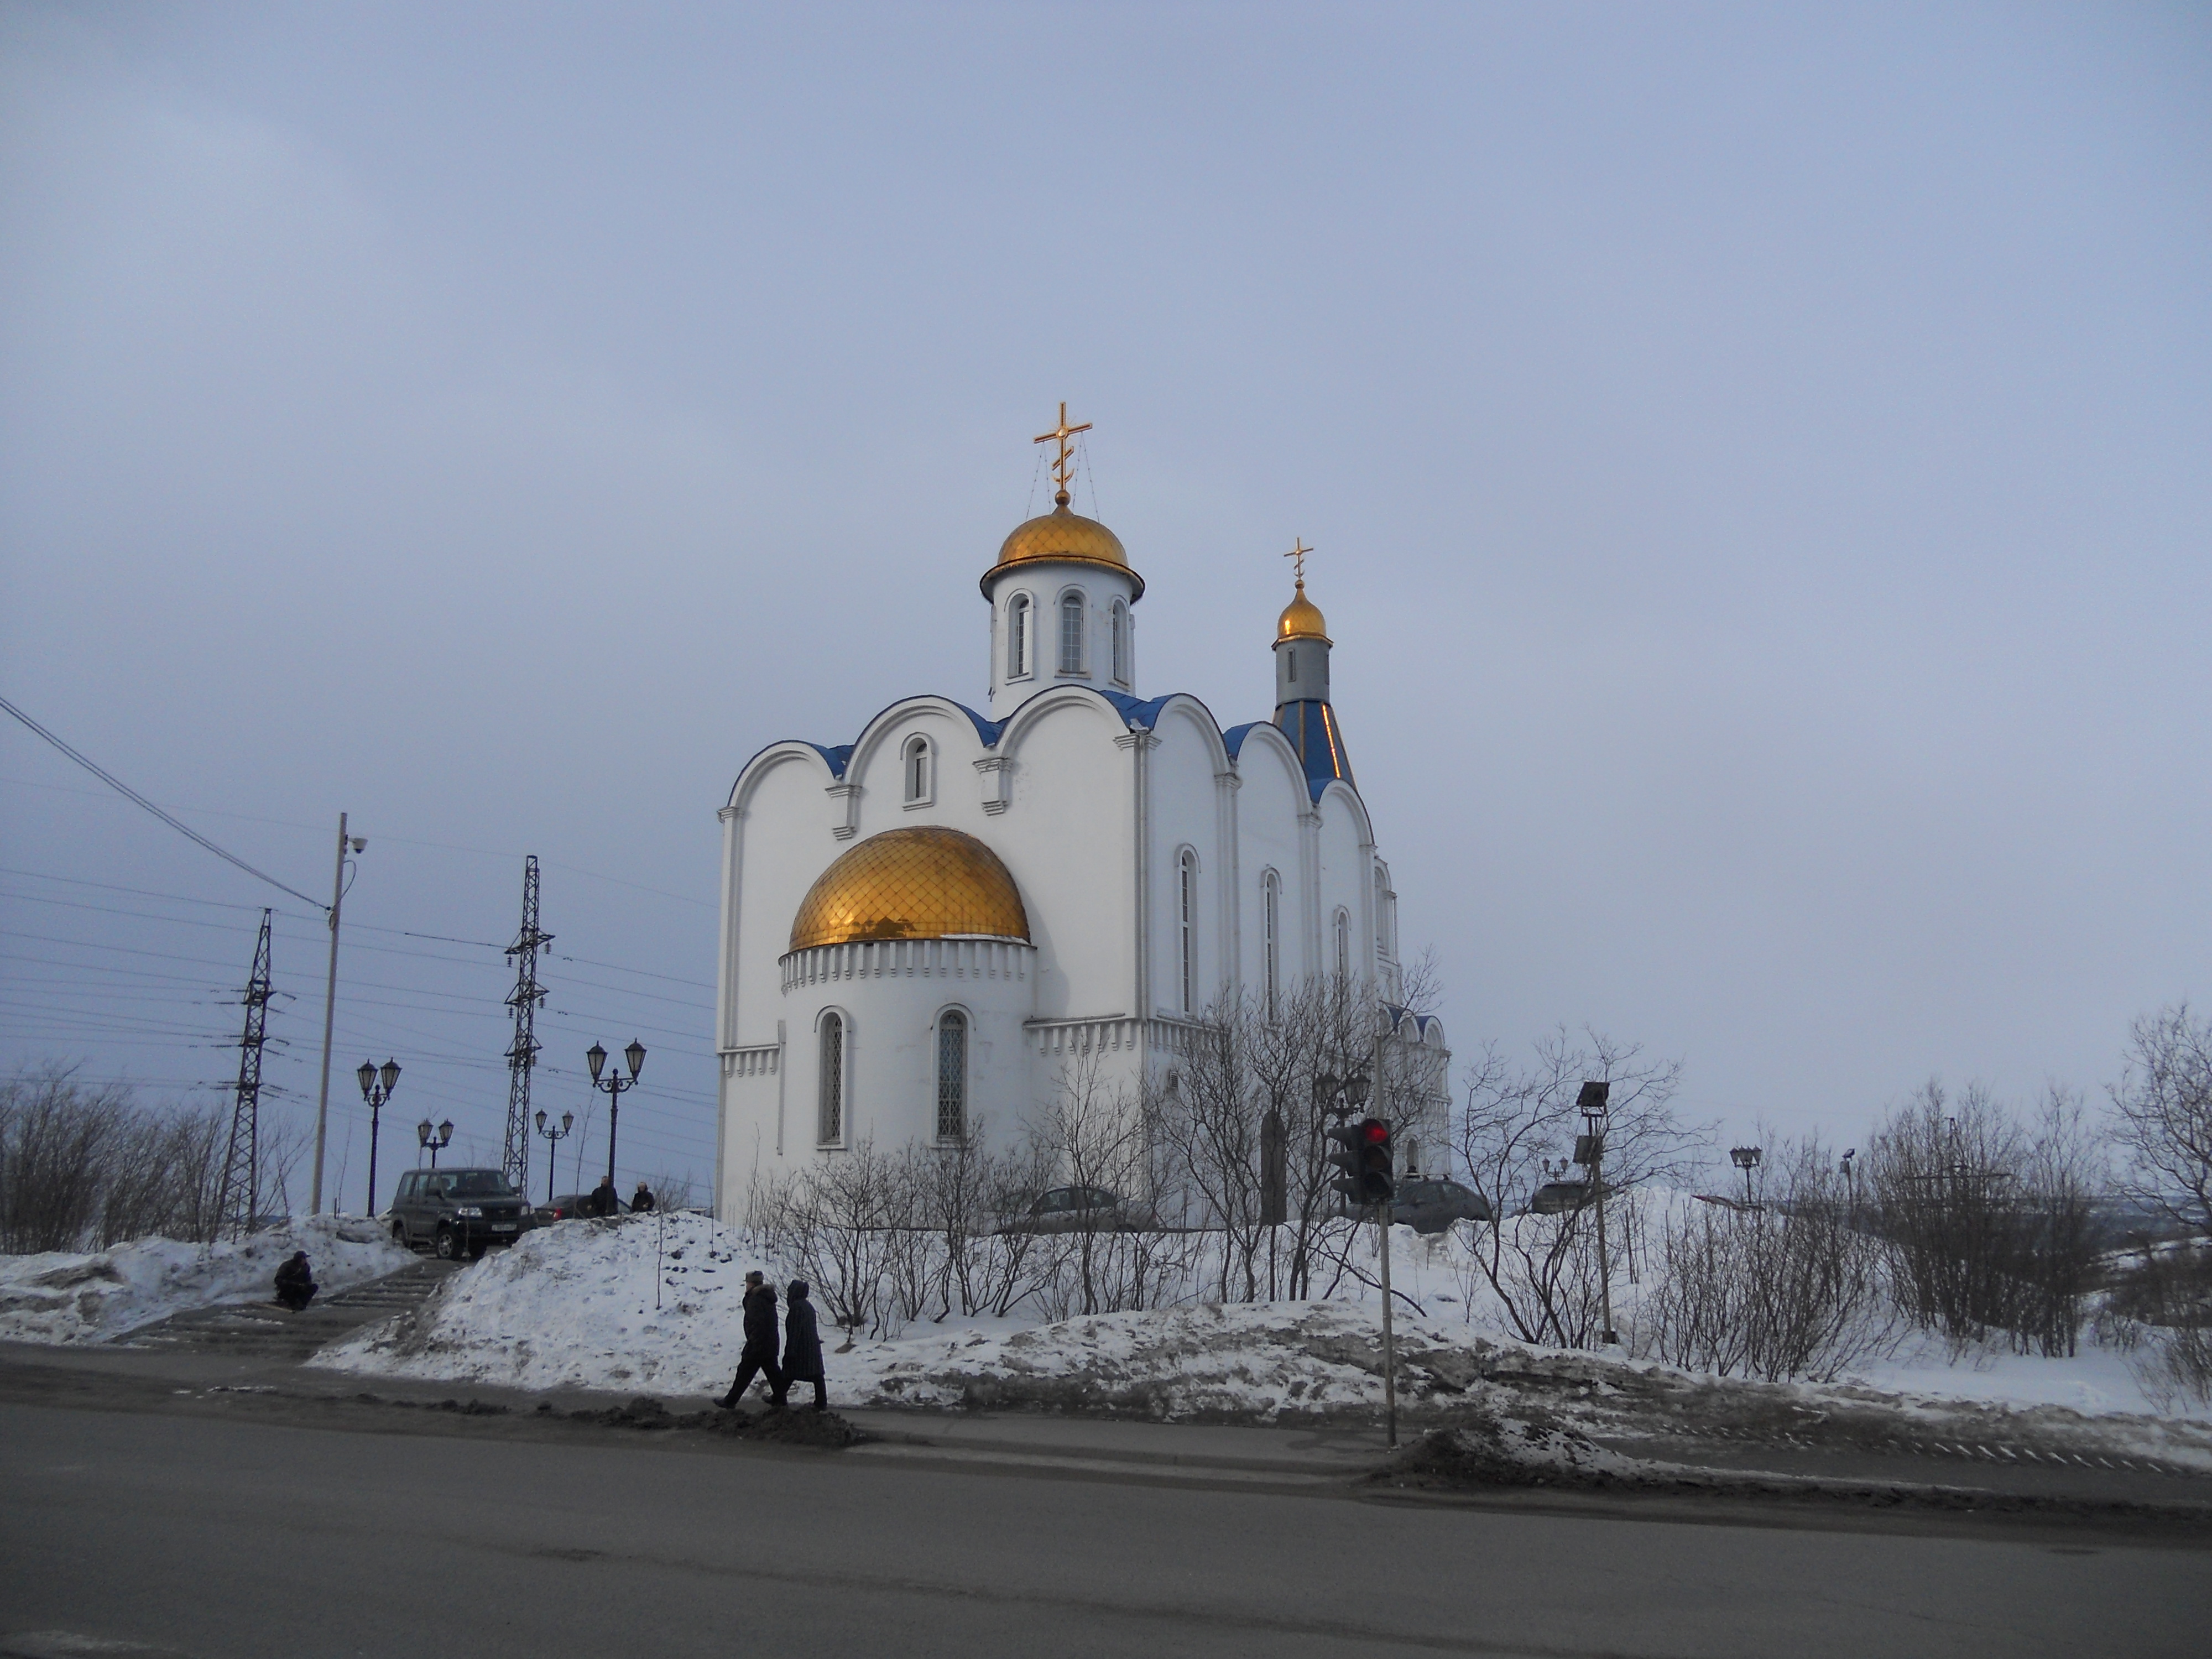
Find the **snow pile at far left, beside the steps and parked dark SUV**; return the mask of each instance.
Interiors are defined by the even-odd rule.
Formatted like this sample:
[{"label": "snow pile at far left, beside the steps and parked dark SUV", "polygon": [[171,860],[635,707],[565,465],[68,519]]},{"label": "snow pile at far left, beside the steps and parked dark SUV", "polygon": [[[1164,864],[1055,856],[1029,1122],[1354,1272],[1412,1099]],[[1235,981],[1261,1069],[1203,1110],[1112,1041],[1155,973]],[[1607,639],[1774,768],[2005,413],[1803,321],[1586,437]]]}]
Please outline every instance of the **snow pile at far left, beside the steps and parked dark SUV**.
[{"label": "snow pile at far left, beside the steps and parked dark SUV", "polygon": [[106,1343],[195,1307],[270,1301],[294,1250],[307,1252],[325,1296],[414,1261],[365,1217],[310,1217],[239,1243],[135,1239],[95,1254],[0,1256],[0,1340]]}]

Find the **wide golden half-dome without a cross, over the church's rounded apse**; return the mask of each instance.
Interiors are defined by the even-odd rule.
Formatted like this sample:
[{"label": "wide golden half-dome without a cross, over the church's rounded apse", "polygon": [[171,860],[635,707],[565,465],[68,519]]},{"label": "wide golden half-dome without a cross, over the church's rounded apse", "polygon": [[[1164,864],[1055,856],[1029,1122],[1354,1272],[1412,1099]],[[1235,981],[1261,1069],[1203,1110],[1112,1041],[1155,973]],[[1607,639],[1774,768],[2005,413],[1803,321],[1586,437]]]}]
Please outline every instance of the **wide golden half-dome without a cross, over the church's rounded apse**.
[{"label": "wide golden half-dome without a cross, over the church's rounded apse", "polygon": [[1026,940],[1022,891],[975,836],[916,825],[869,836],[816,876],[792,920],[792,949],[975,933]]}]

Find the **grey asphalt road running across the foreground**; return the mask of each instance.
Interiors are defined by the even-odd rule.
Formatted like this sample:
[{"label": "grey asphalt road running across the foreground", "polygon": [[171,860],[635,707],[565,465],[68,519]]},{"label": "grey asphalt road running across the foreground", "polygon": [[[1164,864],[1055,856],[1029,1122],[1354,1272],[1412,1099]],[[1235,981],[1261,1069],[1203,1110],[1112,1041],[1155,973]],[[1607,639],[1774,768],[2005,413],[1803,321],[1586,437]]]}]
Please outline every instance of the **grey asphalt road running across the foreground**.
[{"label": "grey asphalt road running across the foreground", "polygon": [[195,1659],[2194,1659],[2212,1621],[2212,1555],[2117,1537],[1573,1517],[613,1433],[4,1405],[0,1484],[0,1655],[64,1630]]}]

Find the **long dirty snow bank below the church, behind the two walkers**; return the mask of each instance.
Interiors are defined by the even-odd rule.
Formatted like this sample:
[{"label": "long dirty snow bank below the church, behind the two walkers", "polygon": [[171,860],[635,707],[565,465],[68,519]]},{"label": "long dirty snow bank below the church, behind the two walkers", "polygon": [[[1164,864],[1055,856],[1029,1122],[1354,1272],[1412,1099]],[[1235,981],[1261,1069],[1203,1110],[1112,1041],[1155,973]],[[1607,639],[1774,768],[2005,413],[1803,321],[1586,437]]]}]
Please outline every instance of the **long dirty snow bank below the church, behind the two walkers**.
[{"label": "long dirty snow bank below the church, behind the two walkers", "polygon": [[[1940,1347],[1829,1385],[1723,1383],[1617,1354],[1502,1340],[1438,1298],[1433,1261],[1407,1234],[1400,1283],[1429,1292],[1398,1325],[1405,1409],[1542,1409],[1608,1433],[1745,1431],[1809,1420],[1878,1433],[2093,1433],[2212,1471],[2212,1420],[2161,1416],[2126,1363],[1978,1356]],[[449,1279],[429,1303],[358,1332],[314,1365],[524,1389],[719,1394],[743,1347],[748,1237],[706,1217],[562,1223]],[[838,1405],[1117,1411],[1150,1418],[1285,1420],[1383,1405],[1378,1307],[1338,1287],[1310,1303],[1190,1303],[1139,1314],[951,1318],[896,1340],[825,1332]],[[779,1296],[781,1301],[781,1296]],[[1997,1425],[1997,1427],[1993,1427]]]}]

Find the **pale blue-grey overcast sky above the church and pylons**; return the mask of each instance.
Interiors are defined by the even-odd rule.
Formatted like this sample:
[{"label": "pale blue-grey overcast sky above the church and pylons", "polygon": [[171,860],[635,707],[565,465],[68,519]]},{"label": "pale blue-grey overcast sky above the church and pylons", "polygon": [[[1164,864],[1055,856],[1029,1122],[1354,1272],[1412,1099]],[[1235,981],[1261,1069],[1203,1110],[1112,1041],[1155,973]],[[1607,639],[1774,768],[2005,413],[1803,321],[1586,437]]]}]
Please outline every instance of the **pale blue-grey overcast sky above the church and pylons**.
[{"label": "pale blue-grey overcast sky above the church and pylons", "polygon": [[[369,836],[349,1208],[363,1057],[498,1152],[526,852],[540,1104],[639,1035],[706,1172],[714,810],[984,701],[1060,398],[1146,695],[1265,717],[1321,549],[1462,1053],[1851,1141],[2212,1000],[2201,9],[7,4],[0,122],[0,692]],[[219,1099],[274,902],[312,1115],[307,905],[13,723],[0,872],[0,1064]]]}]

